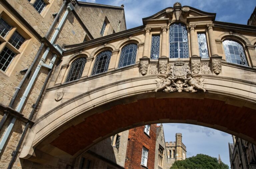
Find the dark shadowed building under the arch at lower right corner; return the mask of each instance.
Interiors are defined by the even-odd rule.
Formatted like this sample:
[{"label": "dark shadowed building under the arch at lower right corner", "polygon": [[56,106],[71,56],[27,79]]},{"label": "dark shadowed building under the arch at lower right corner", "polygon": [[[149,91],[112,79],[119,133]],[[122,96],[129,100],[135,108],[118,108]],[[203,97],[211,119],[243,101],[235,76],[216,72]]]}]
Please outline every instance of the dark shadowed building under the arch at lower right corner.
[{"label": "dark shadowed building under the arch at lower right corner", "polygon": [[256,166],[256,146],[234,135],[232,137],[233,143],[228,143],[230,167],[235,169]]}]

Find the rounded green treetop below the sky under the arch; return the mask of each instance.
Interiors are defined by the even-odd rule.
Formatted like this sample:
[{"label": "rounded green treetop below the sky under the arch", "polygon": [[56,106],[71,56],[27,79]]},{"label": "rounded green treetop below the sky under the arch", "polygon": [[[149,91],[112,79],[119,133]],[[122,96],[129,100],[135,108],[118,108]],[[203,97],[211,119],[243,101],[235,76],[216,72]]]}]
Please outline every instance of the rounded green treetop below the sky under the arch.
[{"label": "rounded green treetop below the sky under the arch", "polygon": [[170,169],[229,169],[227,164],[218,163],[217,158],[205,154],[197,154],[183,161],[175,161]]}]

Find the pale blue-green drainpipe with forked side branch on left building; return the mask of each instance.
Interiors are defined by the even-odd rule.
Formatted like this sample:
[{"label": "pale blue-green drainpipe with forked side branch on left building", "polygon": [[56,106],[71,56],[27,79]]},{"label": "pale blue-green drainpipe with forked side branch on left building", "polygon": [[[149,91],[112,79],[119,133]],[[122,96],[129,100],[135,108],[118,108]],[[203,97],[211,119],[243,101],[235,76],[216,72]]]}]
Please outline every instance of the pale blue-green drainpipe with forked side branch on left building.
[{"label": "pale blue-green drainpipe with forked side branch on left building", "polygon": [[[63,25],[63,23],[65,21],[65,19],[66,19],[69,11],[72,11],[72,10],[74,10],[73,5],[71,3],[68,3],[66,11],[65,11],[63,17],[61,18],[61,21],[59,22],[59,24],[58,24],[57,28],[55,29],[55,32],[54,32],[54,34],[53,34],[53,36],[51,38],[51,41],[50,41],[51,43],[53,43],[54,40],[56,39],[56,37],[57,37],[57,35],[58,35],[58,33],[59,33],[59,31],[60,31],[60,29],[61,29],[61,27],[62,27],[62,25]],[[32,86],[34,84],[34,81],[35,81],[35,79],[36,79],[36,77],[37,77],[41,67],[44,66],[46,68],[49,68],[50,65],[53,66],[53,64],[55,62],[55,59],[57,57],[56,54],[53,55],[53,58],[52,58],[51,63],[50,63],[49,66],[44,64],[44,61],[45,61],[46,56],[49,53],[49,51],[50,51],[50,47],[47,47],[47,49],[45,50],[42,58],[40,59],[39,64],[36,67],[36,70],[35,70],[34,74],[32,75],[32,77],[31,77],[31,79],[29,81],[29,84],[28,84],[27,88],[25,89],[25,92],[23,93],[22,97],[20,98],[20,102],[19,102],[18,106],[15,109],[17,112],[20,112],[21,108],[23,107],[23,104],[25,103],[25,100],[26,100],[26,98],[27,98],[27,96],[28,96],[28,94],[30,92],[30,89],[32,88]],[[4,132],[3,138],[0,141],[0,153],[1,153],[3,147],[4,147],[5,143],[6,143],[6,140],[7,140],[8,136],[10,135],[10,132],[12,130],[12,127],[14,126],[15,121],[16,121],[16,117],[13,117],[11,122],[10,122],[10,124],[9,124],[9,126],[6,128],[6,131]]]}]

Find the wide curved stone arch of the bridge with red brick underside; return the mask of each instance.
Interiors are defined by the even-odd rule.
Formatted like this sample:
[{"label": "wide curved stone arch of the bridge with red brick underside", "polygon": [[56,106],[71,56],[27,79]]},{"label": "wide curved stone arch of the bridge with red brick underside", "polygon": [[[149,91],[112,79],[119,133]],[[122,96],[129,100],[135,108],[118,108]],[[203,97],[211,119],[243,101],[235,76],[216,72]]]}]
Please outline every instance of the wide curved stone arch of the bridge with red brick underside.
[{"label": "wide curved stone arch of the bridge with red brick underside", "polygon": [[[252,129],[250,126],[255,125],[255,121],[251,120],[246,124],[241,124],[236,118],[243,119],[245,116],[246,119],[256,119],[256,93],[254,92],[256,83],[209,75],[205,75],[203,78],[209,81],[205,87],[208,91],[206,93],[154,92],[156,88],[154,80],[157,79],[157,75],[126,79],[83,93],[48,111],[35,121],[20,157],[30,158],[34,153],[33,149],[39,145],[42,147],[51,144],[51,146],[58,147],[60,140],[62,143],[68,140],[68,138],[65,139],[66,132],[76,128],[75,126],[78,128],[81,127],[78,125],[95,127],[95,125],[103,124],[103,121],[104,124],[109,125],[118,123],[118,127],[100,126],[103,127],[102,130],[93,137],[83,137],[85,139],[82,141],[83,145],[78,143],[72,145],[74,146],[72,150],[65,150],[63,146],[58,148],[77,156],[80,150],[85,150],[114,133],[145,124],[175,122],[212,127],[237,135],[255,144],[256,133],[250,130]],[[176,102],[180,104],[176,104]],[[184,102],[188,104],[184,104]],[[211,109],[207,108],[208,104],[213,104]],[[122,106],[124,106],[124,110],[121,111]],[[181,109],[182,107],[184,110]],[[162,108],[167,108],[167,112]],[[190,110],[189,114],[185,114],[188,110]],[[209,113],[205,113],[205,110]],[[226,112],[227,110],[231,112]],[[125,119],[122,119],[123,123],[116,121],[118,118],[113,118],[113,116],[118,116],[118,112],[120,112],[120,117],[128,118],[129,123],[125,124]],[[142,114],[142,112],[146,113]],[[177,112],[181,113],[179,117]],[[219,112],[222,114],[218,114]],[[217,119],[213,119],[214,117]],[[99,121],[93,122],[94,125],[90,124],[93,119]],[[91,132],[95,133],[94,131],[89,133]],[[79,134],[81,136],[81,133]],[[77,138],[72,137],[72,139]],[[82,138],[79,137],[79,139]],[[67,145],[64,146],[67,147]]]}]

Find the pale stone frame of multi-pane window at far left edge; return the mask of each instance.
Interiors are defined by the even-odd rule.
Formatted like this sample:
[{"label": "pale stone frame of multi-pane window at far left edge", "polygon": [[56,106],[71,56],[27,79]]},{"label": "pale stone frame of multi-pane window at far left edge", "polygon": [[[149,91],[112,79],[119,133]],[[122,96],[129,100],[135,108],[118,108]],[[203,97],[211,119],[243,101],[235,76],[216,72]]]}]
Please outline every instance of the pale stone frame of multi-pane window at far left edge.
[{"label": "pale stone frame of multi-pane window at far left edge", "polygon": [[[31,37],[19,26],[18,23],[16,23],[7,13],[2,11],[0,13],[0,18],[2,18],[8,25],[11,26],[11,29],[9,32],[4,36],[0,36],[0,53],[3,51],[5,47],[8,47],[12,52],[15,53],[15,56],[11,60],[10,64],[7,66],[6,70],[3,71],[0,69],[0,72],[6,76],[10,76],[11,72],[14,70],[18,60],[20,59],[21,54],[24,52],[27,44],[29,43],[29,40]],[[18,32],[25,40],[17,49],[15,46],[13,46],[9,41],[11,37],[14,35],[15,32]]]}]

